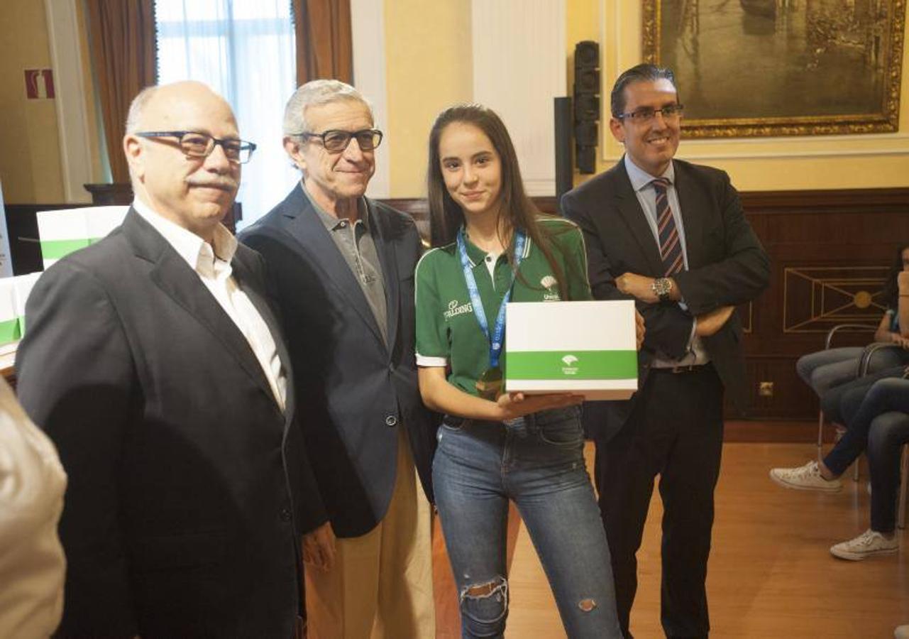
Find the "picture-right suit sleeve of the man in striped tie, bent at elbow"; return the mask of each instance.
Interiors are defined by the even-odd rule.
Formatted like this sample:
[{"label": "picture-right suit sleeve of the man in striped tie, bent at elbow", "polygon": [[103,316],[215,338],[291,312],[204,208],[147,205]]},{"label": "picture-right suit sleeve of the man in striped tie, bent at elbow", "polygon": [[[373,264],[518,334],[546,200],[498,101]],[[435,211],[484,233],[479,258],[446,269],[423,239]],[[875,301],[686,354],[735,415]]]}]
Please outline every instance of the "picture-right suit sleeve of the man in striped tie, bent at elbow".
[{"label": "picture-right suit sleeve of the man in striped tie, bent at elbow", "polygon": [[744,217],[738,193],[729,175],[714,184],[713,196],[723,219],[722,258],[674,275],[685,304],[694,315],[720,306],[750,302],[766,288],[770,279],[770,260],[751,225]]}]

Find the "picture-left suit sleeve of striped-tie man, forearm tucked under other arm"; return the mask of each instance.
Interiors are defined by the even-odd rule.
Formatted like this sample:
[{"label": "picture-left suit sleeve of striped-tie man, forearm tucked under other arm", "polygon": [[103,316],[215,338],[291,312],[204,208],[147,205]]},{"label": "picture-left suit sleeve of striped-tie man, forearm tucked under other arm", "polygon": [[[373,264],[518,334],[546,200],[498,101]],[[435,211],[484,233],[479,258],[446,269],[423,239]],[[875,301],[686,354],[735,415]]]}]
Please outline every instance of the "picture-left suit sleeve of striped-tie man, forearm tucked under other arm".
[{"label": "picture-left suit sleeve of striped-tie man, forearm tucked under other arm", "polygon": [[[590,275],[590,288],[594,299],[634,299],[632,295],[625,295],[616,288],[613,266],[604,251],[604,243],[600,237],[601,231],[594,224],[588,209],[588,206],[580,205],[571,192],[562,196],[562,211],[565,217],[573,220],[584,235],[587,273]],[[647,329],[644,334],[644,348],[660,351],[676,359],[687,353],[694,322],[692,315],[686,313],[675,303],[644,304],[635,301],[635,305],[644,316],[644,325]]]}]

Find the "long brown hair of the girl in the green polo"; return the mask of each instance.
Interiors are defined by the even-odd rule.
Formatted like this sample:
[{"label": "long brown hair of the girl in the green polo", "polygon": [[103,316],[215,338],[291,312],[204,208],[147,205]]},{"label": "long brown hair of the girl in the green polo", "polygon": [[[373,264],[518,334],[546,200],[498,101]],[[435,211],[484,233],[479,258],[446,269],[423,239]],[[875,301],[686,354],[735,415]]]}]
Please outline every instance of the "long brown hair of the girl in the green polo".
[{"label": "long brown hair of the girl in the green polo", "polygon": [[[543,216],[527,194],[524,193],[524,181],[521,179],[521,168],[514,153],[514,145],[502,119],[492,109],[484,105],[465,104],[449,106],[435,118],[429,132],[429,165],[426,169],[426,187],[429,200],[429,238],[430,244],[445,246],[454,242],[457,231],[464,225],[464,211],[454,202],[445,178],[442,176],[442,162],[439,156],[439,140],[445,127],[451,124],[464,123],[474,125],[489,138],[502,165],[502,190],[499,193],[499,215],[504,215],[507,230],[524,231],[527,237],[543,252],[546,262],[553,270],[559,285],[562,299],[567,297],[567,282],[562,266],[555,260],[549,244],[553,238],[546,237],[537,224],[537,218]],[[555,235],[555,234],[549,234]],[[514,265],[514,245],[508,247],[509,262]],[[518,274],[520,277],[520,274]],[[522,278],[522,281],[523,278]],[[524,282],[526,284],[526,282]]]}]

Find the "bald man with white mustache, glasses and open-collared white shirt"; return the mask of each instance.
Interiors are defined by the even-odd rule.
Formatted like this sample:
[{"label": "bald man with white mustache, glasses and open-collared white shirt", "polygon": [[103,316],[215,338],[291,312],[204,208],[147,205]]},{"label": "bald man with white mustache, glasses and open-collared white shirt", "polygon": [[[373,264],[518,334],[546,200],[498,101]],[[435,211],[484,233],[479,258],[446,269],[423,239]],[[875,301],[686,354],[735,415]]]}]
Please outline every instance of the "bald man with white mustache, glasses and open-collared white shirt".
[{"label": "bald man with white mustache, glasses and open-collared white shirt", "polygon": [[62,636],[295,634],[325,511],[265,265],[220,224],[251,146],[205,85],[145,89],[123,225],[29,297],[19,397],[69,474]]}]

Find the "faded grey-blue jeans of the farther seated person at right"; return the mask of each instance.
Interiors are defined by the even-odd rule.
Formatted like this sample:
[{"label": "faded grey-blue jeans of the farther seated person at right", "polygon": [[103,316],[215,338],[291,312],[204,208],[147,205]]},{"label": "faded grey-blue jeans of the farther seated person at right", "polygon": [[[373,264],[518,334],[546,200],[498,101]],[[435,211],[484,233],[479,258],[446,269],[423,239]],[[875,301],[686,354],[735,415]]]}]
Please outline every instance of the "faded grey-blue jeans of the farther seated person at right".
[{"label": "faded grey-blue jeans of the farther seated person at right", "polygon": [[[795,371],[820,397],[834,386],[851,382],[858,376],[858,364],[863,351],[862,346],[844,346],[809,353],[798,358],[795,362]],[[872,356],[868,363],[868,373],[904,364],[907,360],[909,353],[906,351],[884,348]]]}]

